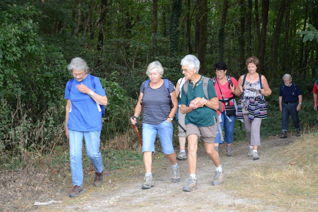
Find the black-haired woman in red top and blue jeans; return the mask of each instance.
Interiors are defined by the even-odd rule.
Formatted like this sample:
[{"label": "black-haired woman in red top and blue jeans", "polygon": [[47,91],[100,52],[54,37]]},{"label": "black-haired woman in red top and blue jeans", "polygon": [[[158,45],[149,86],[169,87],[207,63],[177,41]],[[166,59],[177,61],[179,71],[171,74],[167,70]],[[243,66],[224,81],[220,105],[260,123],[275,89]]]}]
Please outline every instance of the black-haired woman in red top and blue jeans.
[{"label": "black-haired woman in red top and blue jeans", "polygon": [[[226,155],[233,156],[232,150],[232,142],[233,142],[233,131],[234,131],[234,124],[236,119],[236,101],[234,96],[234,90],[238,85],[238,81],[230,77],[232,85],[230,85],[229,80],[226,76],[227,67],[226,64],[223,62],[218,62],[214,65],[216,76],[212,79],[215,91],[218,96],[219,102],[222,102],[222,112],[219,115],[220,120],[220,127],[222,128],[221,131],[225,131],[224,140],[226,142]],[[226,109],[226,106],[232,106],[232,113],[230,110]],[[222,144],[220,131],[217,129],[217,137],[214,143],[214,149],[218,151],[219,144]]]}]

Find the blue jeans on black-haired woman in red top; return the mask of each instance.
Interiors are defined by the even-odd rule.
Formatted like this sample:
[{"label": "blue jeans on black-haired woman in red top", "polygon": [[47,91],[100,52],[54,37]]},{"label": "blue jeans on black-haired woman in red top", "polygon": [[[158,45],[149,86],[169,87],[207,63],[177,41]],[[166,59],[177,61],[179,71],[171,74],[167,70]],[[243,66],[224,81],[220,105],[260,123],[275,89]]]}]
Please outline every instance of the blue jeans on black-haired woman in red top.
[{"label": "blue jeans on black-haired woman in red top", "polygon": [[[221,113],[222,122],[220,122],[220,126],[223,130],[224,126],[224,141],[226,141],[227,144],[232,144],[233,142],[233,131],[234,131],[234,124],[235,124],[235,115],[229,116],[229,118],[232,120],[231,122],[226,118],[225,111]],[[223,132],[223,131],[222,131]],[[219,128],[217,129],[217,137],[215,139],[214,143],[222,144],[221,135],[219,132]]]}]

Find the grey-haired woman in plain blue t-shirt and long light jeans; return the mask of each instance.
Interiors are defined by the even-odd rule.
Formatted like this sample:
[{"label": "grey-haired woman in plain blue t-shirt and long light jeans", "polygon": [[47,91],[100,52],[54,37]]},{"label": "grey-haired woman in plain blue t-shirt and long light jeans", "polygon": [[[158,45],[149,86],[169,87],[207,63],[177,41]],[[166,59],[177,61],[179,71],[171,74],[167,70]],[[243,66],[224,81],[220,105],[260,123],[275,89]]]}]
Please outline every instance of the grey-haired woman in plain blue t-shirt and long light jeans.
[{"label": "grey-haired woman in plain blue t-shirt and long light jeans", "polygon": [[95,167],[95,187],[104,179],[101,160],[100,130],[102,126],[101,106],[107,105],[105,90],[100,79],[88,73],[88,66],[82,58],[73,58],[68,65],[73,79],[66,83],[65,134],[70,143],[70,162],[73,189],[70,197],[83,193],[82,147],[85,138],[86,153]]}]

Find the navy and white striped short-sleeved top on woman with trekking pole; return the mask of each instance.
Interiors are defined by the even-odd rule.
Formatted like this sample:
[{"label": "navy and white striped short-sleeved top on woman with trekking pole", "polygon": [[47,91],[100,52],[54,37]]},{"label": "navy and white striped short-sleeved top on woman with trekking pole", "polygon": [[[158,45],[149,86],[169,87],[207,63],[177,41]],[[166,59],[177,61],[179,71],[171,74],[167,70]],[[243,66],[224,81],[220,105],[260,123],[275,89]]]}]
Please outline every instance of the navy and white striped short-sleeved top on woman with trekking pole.
[{"label": "navy and white striped short-sleeved top on woman with trekking pole", "polygon": [[[164,83],[157,89],[152,89],[150,83],[145,89],[146,81],[140,87],[143,93],[142,102],[143,108],[143,123],[159,124],[166,120],[170,113],[170,98]],[[175,86],[169,81],[169,93],[175,91]]]}]

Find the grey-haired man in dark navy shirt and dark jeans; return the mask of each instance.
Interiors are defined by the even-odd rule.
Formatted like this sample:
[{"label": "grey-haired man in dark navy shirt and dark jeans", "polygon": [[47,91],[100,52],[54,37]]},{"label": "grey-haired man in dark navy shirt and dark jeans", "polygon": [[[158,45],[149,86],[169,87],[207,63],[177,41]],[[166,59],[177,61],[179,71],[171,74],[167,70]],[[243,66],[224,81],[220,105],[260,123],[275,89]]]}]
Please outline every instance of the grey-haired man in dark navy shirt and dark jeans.
[{"label": "grey-haired man in dark navy shirt and dark jeans", "polygon": [[284,85],[280,87],[279,93],[279,109],[282,115],[281,118],[281,136],[280,138],[287,138],[288,120],[291,115],[296,136],[300,136],[300,124],[298,119],[298,111],[301,108],[301,90],[299,86],[292,83],[292,76],[285,74],[283,77]]}]

